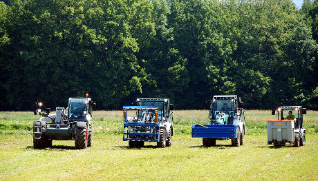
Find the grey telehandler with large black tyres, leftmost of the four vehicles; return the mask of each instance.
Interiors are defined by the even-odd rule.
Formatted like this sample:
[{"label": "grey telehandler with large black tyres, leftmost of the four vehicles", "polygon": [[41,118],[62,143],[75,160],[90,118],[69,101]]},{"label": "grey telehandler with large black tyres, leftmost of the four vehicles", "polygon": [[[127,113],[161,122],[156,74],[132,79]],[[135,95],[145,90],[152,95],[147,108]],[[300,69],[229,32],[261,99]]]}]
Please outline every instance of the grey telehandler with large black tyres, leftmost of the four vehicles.
[{"label": "grey telehandler with large black tyres, leftmost of the four vehicles", "polygon": [[75,140],[77,149],[92,145],[92,114],[96,103],[88,98],[69,98],[68,108],[57,107],[51,114],[41,102],[33,103],[34,114],[42,117],[33,122],[33,147],[43,149],[52,146],[53,140]]}]

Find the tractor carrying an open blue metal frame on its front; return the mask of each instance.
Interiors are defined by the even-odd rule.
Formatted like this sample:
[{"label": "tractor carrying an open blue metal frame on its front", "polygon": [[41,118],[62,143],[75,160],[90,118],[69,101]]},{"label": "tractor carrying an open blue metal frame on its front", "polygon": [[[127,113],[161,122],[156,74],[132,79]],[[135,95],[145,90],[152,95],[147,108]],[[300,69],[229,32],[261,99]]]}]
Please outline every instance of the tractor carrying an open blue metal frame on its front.
[{"label": "tractor carrying an open blue metal frame on its front", "polygon": [[170,147],[174,135],[170,100],[138,98],[138,106],[123,106],[124,136],[129,147],[143,147],[144,142],[157,142],[158,147]]}]

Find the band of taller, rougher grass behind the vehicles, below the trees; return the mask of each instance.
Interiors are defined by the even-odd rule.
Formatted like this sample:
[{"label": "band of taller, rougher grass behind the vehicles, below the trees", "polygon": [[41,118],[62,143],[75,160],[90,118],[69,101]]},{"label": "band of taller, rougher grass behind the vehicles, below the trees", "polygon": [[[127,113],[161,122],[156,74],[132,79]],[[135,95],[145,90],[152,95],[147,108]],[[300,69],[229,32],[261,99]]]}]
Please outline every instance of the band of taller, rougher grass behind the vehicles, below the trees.
[{"label": "band of taller, rougher grass behind the vehicles, below the trees", "polygon": [[[190,134],[191,123],[207,124],[208,111],[206,110],[180,110],[174,111],[174,127],[176,134]],[[32,131],[32,121],[41,116],[32,112],[0,112],[0,134],[28,134]],[[93,131],[100,134],[122,134],[122,111],[94,111]],[[247,134],[263,135],[267,132],[267,120],[274,119],[269,110],[245,111]],[[318,111],[307,111],[303,126],[308,134],[318,132]]]}]

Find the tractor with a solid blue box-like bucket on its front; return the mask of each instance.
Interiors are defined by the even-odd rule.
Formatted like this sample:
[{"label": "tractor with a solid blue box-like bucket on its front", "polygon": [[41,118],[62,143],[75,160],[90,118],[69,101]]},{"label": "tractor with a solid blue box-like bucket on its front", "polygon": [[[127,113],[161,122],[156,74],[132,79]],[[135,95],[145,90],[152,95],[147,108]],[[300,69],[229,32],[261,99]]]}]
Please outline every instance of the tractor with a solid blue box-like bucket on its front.
[{"label": "tractor with a solid blue box-like bucket on its front", "polygon": [[245,118],[243,102],[236,95],[213,96],[209,101],[209,125],[192,125],[192,138],[203,138],[203,146],[216,145],[216,140],[232,140],[232,146],[244,144]]}]

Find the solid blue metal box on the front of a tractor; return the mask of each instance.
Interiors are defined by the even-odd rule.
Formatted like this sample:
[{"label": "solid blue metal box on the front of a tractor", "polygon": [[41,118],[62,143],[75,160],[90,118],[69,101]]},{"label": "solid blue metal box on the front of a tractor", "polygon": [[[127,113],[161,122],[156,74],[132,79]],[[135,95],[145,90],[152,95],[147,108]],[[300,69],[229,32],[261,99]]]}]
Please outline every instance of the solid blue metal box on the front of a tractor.
[{"label": "solid blue metal box on the front of a tractor", "polygon": [[236,138],[236,125],[192,125],[192,138]]}]

